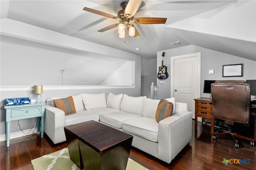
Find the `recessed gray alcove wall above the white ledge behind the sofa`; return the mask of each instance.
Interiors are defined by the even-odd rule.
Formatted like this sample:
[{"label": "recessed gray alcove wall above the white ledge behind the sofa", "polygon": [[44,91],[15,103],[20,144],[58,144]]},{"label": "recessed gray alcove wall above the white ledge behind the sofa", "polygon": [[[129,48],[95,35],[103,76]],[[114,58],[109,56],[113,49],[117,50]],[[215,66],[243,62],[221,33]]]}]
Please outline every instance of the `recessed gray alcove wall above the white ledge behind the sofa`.
[{"label": "recessed gray alcove wall above the white ledge behind the sofa", "polygon": [[[4,80],[1,85],[101,85],[128,62],[125,57],[113,57],[107,52],[105,54],[1,35],[0,66],[3,70],[1,79]],[[134,54],[128,53],[127,56],[124,53],[124,56],[134,60]],[[63,75],[60,70],[64,70]],[[116,79],[111,79],[105,85],[120,85],[120,82],[122,85],[132,85],[132,80],[128,79],[132,72],[118,70],[118,73],[122,76],[116,76]],[[33,79],[24,79],[20,75],[29,75]]]}]

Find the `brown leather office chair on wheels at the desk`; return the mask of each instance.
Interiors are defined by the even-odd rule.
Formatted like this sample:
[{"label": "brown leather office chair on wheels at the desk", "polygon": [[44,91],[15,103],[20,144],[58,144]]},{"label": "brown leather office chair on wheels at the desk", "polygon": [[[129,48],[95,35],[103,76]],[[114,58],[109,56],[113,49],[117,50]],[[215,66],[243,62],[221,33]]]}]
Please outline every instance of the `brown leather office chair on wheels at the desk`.
[{"label": "brown leather office chair on wheels at the desk", "polygon": [[[251,146],[254,146],[256,141],[256,122],[255,113],[250,113],[250,85],[245,81],[215,81],[211,85],[212,91],[212,115],[216,120],[222,120],[228,125],[228,131],[214,132],[212,138],[216,136],[230,135],[235,146],[239,148],[240,142],[234,137],[249,140]],[[232,127],[253,126],[254,135],[243,136],[232,132]]]}]

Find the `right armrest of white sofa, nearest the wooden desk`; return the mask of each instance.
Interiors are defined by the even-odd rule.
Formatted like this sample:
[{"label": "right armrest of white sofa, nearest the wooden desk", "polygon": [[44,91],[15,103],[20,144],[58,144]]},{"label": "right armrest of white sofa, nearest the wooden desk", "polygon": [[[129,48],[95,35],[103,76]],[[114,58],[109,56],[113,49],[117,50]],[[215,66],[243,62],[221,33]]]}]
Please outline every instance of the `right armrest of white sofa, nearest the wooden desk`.
[{"label": "right armrest of white sofa, nearest the wooden desk", "polygon": [[176,112],[158,125],[158,155],[170,163],[192,140],[192,112]]}]

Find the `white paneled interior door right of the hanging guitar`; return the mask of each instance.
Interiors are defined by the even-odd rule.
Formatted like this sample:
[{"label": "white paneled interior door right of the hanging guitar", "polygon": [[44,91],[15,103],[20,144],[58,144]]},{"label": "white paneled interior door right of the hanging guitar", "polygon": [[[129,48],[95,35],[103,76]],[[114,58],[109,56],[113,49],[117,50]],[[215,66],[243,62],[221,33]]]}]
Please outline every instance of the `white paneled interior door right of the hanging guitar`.
[{"label": "white paneled interior door right of the hanging guitar", "polygon": [[194,99],[200,97],[201,53],[171,57],[171,96],[188,103],[195,118]]}]

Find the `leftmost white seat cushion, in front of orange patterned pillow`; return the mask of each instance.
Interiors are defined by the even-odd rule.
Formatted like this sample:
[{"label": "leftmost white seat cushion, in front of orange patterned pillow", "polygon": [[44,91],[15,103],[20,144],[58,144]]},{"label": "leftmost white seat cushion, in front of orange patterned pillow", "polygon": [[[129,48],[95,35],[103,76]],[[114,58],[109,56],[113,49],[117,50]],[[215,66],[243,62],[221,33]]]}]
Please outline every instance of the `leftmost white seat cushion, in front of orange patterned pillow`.
[{"label": "leftmost white seat cushion, in front of orange patterned pillow", "polygon": [[65,126],[74,125],[86,121],[99,121],[100,116],[92,110],[80,111],[73,115],[65,116]]}]

